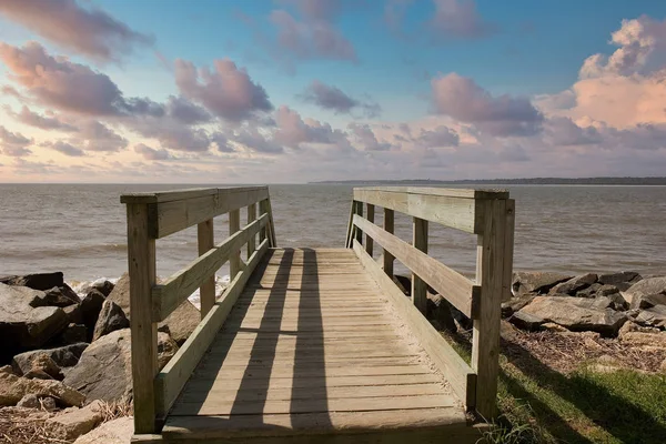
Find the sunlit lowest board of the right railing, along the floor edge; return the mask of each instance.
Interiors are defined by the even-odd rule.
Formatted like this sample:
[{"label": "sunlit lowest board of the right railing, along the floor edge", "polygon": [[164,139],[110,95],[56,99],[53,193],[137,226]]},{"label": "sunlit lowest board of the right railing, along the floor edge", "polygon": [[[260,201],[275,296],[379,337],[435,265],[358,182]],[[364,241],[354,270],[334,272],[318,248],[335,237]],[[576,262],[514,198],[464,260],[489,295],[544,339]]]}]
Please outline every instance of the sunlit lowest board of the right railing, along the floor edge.
[{"label": "sunlit lowest board of the right railing, along the floor edge", "polygon": [[473,406],[476,394],[476,374],[474,371],[393,284],[391,278],[380,269],[377,263],[365,253],[359,243],[354,244],[354,251],[384,294],[391,299],[398,315],[410,326],[423,350],[442,374],[446,375],[454,393],[465,405]]}]

